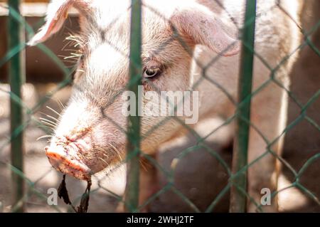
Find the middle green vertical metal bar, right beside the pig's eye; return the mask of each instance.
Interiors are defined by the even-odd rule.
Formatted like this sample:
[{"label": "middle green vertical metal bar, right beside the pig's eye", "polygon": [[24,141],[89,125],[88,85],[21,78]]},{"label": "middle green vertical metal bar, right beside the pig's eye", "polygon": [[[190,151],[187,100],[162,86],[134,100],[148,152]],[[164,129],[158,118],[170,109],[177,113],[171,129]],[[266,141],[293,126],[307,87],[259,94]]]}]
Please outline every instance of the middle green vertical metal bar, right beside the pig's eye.
[{"label": "middle green vertical metal bar, right beside the pig's eye", "polygon": [[139,85],[142,84],[142,6],[140,0],[132,0],[129,90],[135,94],[136,115],[128,117],[127,129],[127,186],[125,194],[126,211],[135,212],[139,206],[139,152],[140,152],[140,117]]}]

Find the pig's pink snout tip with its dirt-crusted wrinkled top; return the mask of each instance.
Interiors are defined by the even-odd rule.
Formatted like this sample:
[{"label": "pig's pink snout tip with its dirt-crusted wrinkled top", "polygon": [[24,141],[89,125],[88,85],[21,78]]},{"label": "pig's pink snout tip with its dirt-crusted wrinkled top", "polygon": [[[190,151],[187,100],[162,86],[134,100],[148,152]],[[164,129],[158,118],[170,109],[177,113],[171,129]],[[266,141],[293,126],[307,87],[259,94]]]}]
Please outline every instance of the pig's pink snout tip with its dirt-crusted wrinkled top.
[{"label": "pig's pink snout tip with its dirt-crusted wrinkled top", "polygon": [[65,139],[58,139],[50,147],[46,147],[45,151],[50,164],[55,169],[87,181],[93,173],[80,157],[84,152],[83,149],[86,148],[85,144],[83,140],[66,142]]}]

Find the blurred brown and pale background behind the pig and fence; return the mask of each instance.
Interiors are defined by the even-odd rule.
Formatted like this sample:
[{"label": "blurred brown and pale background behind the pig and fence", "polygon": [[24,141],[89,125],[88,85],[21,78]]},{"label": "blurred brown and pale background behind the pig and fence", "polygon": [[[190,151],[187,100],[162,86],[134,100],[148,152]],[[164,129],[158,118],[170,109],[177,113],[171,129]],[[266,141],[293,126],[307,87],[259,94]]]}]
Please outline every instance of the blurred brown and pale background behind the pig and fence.
[{"label": "blurred brown and pale background behind the pig and fence", "polygon": [[[47,1],[23,1],[21,12],[26,17],[26,21],[35,29],[43,23],[43,16],[46,12]],[[7,9],[6,1],[0,1],[0,60],[9,51],[7,47]],[[320,1],[306,0],[302,14],[302,27],[309,31],[320,21]],[[70,56],[70,50],[65,41],[65,37],[70,33],[78,31],[77,15],[71,13],[65,23],[63,31],[55,35],[45,44],[56,56],[63,60],[65,65],[71,67],[74,62],[64,60],[65,56]],[[27,37],[28,38],[28,37]],[[316,48],[320,48],[320,31],[315,31],[311,40]],[[67,46],[67,47],[66,47]],[[304,46],[299,60],[292,70],[292,92],[297,99],[306,102],[319,91],[320,88],[320,58],[309,46]],[[63,72],[53,60],[38,48],[26,48],[26,84],[23,86],[23,98],[28,107],[35,106],[42,97],[54,90],[57,84],[63,81]],[[6,163],[10,163],[10,97],[4,91],[9,91],[8,85],[8,65],[0,68],[0,212],[11,211],[11,171]],[[38,119],[43,115],[53,112],[46,106],[60,111],[60,102],[65,104],[70,96],[70,87],[63,88],[53,95],[48,102],[36,112],[33,117]],[[300,108],[291,101],[289,103],[289,122],[294,121],[300,115]],[[306,114],[320,125],[320,100],[316,100],[307,110]],[[210,120],[202,122],[197,128],[199,134],[207,134],[208,129],[212,130],[221,124],[222,120]],[[206,127],[203,127],[205,125]],[[62,179],[58,171],[50,167],[43,148],[46,147],[46,139],[37,141],[44,132],[38,127],[36,122],[26,128],[24,134],[24,168],[26,177],[33,182],[32,187],[28,187],[26,198],[26,212],[57,212],[70,211],[70,207],[65,206],[59,200],[57,207],[48,206],[46,199],[42,195],[48,196],[49,188],[57,188]],[[208,144],[213,147],[231,164],[232,147],[226,146],[225,142],[230,138],[228,128],[222,128],[214,136],[208,138]],[[186,135],[174,142],[164,144],[161,147],[160,163],[164,168],[169,169],[172,160],[185,148],[196,143],[196,139],[191,135]],[[299,122],[292,130],[286,134],[284,144],[284,159],[292,167],[299,171],[303,164],[310,157],[320,152],[320,132],[319,129],[311,125],[306,120]],[[320,159],[311,164],[304,172],[301,183],[320,198]],[[107,176],[106,176],[107,175]],[[110,193],[122,195],[125,186],[124,168],[116,169],[110,173],[101,173],[93,182],[93,193],[90,198],[90,212],[113,212],[117,208],[117,196]],[[164,176],[159,175],[161,185],[166,184]],[[284,167],[280,176],[280,187],[284,188],[294,180],[289,169]],[[228,175],[217,160],[204,150],[198,150],[188,154],[179,162],[175,173],[175,185],[188,199],[190,199],[201,211],[206,210],[219,192],[227,184]],[[71,199],[76,202],[79,196],[85,191],[84,182],[67,177],[67,186]],[[226,194],[215,207],[215,212],[227,212],[229,198]],[[161,194],[151,204],[151,211],[192,211],[188,204],[184,203],[179,196],[171,191]],[[298,189],[287,189],[279,193],[279,208],[282,212],[320,212],[319,204],[309,199]]]}]

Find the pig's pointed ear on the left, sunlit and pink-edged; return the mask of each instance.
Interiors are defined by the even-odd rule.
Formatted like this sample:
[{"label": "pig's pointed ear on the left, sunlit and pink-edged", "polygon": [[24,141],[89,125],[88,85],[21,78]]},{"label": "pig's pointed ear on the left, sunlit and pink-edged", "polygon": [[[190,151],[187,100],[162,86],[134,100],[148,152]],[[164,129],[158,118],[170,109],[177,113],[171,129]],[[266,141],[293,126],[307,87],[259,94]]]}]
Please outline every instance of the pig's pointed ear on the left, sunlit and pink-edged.
[{"label": "pig's pointed ear on the left, sunlit and pink-edged", "polygon": [[55,0],[48,5],[48,12],[46,16],[45,25],[36,33],[29,46],[35,46],[38,43],[46,41],[54,33],[58,32],[63,26],[65,19],[68,16],[68,9],[73,6],[75,0]]}]

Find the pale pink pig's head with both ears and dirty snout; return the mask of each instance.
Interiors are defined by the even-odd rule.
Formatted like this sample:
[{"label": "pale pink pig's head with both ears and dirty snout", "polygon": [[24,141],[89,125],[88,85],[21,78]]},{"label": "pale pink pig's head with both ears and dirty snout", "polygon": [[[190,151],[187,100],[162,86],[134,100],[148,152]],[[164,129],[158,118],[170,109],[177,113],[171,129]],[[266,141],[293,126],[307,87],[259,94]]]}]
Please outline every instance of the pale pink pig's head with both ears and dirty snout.
[{"label": "pale pink pig's head with both ears and dirty snout", "polygon": [[[121,94],[129,81],[129,6],[127,0],[53,1],[46,24],[30,41],[36,45],[59,31],[70,7],[80,12],[82,57],[73,93],[46,147],[50,164],[78,179],[88,179],[125,154],[127,117]],[[236,41],[205,6],[186,0],[144,1],[142,11],[144,92],[189,90],[192,54],[198,44],[222,56],[238,53]],[[180,123],[173,119],[156,127],[162,120],[142,117],[143,152],[179,130]]]}]

